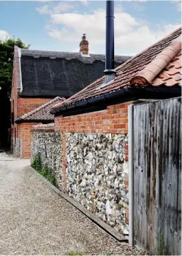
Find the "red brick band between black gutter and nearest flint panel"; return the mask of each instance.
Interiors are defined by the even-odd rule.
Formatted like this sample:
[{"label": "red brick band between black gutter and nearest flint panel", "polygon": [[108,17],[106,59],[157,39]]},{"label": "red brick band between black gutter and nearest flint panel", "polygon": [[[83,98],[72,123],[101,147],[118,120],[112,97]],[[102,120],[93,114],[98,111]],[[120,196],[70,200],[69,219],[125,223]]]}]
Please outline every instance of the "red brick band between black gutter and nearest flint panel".
[{"label": "red brick band between black gutter and nearest flint panel", "polygon": [[58,116],[55,129],[61,132],[128,133],[128,106],[132,102],[107,107],[94,113],[77,116]]}]

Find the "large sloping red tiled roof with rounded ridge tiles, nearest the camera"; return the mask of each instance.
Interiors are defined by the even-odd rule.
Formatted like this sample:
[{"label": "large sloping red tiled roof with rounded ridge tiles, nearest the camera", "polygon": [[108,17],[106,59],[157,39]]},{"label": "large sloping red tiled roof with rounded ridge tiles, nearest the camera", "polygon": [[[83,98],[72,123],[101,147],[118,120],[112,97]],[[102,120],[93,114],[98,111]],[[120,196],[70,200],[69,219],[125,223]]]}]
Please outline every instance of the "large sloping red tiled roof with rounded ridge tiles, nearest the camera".
[{"label": "large sloping red tiled roof with rounded ridge tiles, nearest the camera", "polygon": [[[104,85],[105,76],[103,76],[64,102],[54,105],[53,110],[133,86],[181,86],[180,36],[181,27],[118,66],[115,69],[115,79],[107,85]],[[156,69],[157,66],[159,68]],[[153,68],[155,72],[152,75]],[[149,73],[151,73],[150,79]]]}]

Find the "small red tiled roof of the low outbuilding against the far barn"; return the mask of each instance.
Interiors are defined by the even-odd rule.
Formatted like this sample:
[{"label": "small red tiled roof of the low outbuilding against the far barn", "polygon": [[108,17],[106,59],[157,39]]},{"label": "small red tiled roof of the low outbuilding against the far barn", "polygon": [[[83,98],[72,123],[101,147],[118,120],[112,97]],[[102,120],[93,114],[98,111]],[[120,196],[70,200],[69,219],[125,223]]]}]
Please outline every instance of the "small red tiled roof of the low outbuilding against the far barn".
[{"label": "small red tiled roof of the low outbuilding against the far barn", "polygon": [[16,122],[20,121],[50,121],[54,119],[54,116],[50,114],[50,109],[53,108],[53,105],[56,103],[63,102],[64,98],[56,97],[54,99],[51,99],[49,102],[46,102],[45,104],[39,106],[39,108],[36,108],[34,110],[31,110],[30,112],[24,114],[23,116],[20,116]]}]

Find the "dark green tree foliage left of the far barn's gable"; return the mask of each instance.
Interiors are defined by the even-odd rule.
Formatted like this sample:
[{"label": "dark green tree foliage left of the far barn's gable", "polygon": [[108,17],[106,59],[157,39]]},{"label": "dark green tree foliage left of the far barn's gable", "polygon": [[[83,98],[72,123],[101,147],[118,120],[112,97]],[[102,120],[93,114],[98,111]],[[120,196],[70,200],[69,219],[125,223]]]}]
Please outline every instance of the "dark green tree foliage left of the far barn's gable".
[{"label": "dark green tree foliage left of the far barn's gable", "polygon": [[15,38],[9,38],[5,41],[0,40],[0,86],[1,89],[7,91],[9,97],[12,86],[14,45],[23,49],[28,49],[30,46],[25,45],[19,38],[17,40]]}]

